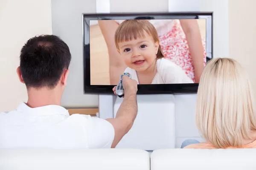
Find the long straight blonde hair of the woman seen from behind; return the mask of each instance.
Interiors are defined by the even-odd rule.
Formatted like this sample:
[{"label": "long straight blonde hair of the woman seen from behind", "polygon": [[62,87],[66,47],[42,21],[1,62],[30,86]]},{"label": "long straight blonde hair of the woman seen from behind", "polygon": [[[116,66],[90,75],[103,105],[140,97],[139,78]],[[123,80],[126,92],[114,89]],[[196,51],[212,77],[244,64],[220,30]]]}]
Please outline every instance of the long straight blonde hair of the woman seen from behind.
[{"label": "long straight blonde hair of the woman seen from behind", "polygon": [[196,125],[217,148],[241,147],[256,130],[250,80],[234,59],[216,58],[204,68],[198,87]]}]

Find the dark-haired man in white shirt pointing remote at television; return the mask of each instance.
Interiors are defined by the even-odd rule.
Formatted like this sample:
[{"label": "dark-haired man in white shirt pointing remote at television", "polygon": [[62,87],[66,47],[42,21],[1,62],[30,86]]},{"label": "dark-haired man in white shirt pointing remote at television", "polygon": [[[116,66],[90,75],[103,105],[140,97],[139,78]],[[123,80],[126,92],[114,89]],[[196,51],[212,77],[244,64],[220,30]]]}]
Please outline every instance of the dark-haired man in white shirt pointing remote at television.
[{"label": "dark-haired man in white shirt pointing remote at television", "polygon": [[0,147],[113,148],[131,129],[137,115],[137,82],[126,76],[125,96],[114,119],[70,116],[60,106],[70,60],[67,44],[57,36],[26,42],[17,75],[26,85],[28,101],[0,113]]}]

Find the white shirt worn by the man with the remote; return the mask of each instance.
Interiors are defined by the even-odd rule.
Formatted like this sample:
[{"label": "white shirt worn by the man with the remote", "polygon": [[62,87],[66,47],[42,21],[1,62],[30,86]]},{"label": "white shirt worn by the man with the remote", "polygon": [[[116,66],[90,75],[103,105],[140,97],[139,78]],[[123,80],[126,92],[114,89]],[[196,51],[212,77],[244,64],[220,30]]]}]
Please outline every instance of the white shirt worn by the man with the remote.
[{"label": "white shirt worn by the man with the remote", "polygon": [[72,114],[58,105],[30,108],[22,102],[0,113],[0,148],[110,148],[115,136],[108,121]]}]

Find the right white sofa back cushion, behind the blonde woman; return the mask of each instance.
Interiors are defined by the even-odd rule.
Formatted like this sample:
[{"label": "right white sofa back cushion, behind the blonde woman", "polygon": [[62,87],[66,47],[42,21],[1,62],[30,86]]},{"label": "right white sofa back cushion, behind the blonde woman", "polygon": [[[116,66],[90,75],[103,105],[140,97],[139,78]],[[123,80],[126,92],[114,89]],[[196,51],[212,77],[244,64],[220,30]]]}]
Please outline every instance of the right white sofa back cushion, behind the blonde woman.
[{"label": "right white sofa back cushion, behind the blonde woman", "polygon": [[162,149],[151,170],[256,170],[256,149]]}]

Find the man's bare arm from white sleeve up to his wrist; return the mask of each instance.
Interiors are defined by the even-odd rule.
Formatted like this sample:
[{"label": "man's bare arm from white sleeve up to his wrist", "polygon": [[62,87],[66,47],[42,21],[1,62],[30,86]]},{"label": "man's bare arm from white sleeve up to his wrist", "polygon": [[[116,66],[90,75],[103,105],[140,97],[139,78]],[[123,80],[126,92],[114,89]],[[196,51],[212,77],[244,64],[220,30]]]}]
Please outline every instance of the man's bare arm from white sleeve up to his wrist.
[{"label": "man's bare arm from white sleeve up to his wrist", "polygon": [[122,137],[131,129],[137,116],[137,111],[136,93],[125,94],[123,102],[116,113],[116,117],[113,119],[106,119],[113,125],[115,130],[115,137],[111,148],[116,147]]}]

